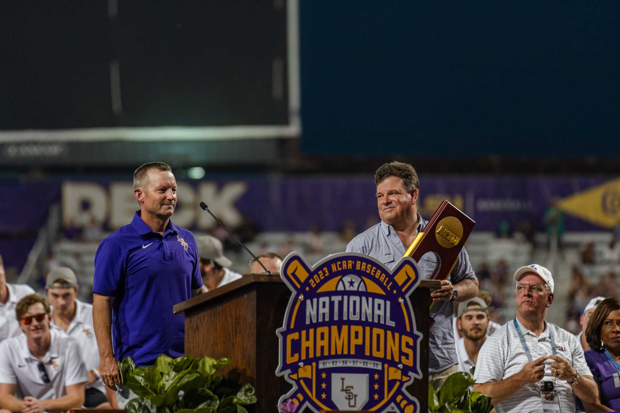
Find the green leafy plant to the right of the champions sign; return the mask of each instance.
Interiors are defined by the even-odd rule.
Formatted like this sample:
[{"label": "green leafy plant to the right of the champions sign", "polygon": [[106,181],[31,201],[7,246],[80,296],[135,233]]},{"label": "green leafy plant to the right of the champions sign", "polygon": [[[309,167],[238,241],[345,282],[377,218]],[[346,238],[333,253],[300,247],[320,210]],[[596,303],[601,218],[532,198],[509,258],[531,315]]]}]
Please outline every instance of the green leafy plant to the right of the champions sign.
[{"label": "green leafy plant to the right of the champions sign", "polygon": [[490,396],[471,391],[474,384],[468,373],[450,375],[439,391],[428,386],[428,411],[432,413],[489,413],[493,409]]}]

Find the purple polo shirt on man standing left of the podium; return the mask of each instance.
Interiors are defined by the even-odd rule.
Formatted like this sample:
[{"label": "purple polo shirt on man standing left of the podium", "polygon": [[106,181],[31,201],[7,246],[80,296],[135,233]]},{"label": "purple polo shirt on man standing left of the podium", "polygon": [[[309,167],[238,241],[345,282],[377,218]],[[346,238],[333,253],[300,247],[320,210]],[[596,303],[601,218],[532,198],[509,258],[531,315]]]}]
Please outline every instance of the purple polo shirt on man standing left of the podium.
[{"label": "purple polo shirt on man standing left of the podium", "polygon": [[114,356],[154,365],[159,354],[185,352],[185,316],[172,306],[202,287],[193,234],[169,221],[164,236],[140,218],[101,241],[95,255],[92,292],[114,297]]}]

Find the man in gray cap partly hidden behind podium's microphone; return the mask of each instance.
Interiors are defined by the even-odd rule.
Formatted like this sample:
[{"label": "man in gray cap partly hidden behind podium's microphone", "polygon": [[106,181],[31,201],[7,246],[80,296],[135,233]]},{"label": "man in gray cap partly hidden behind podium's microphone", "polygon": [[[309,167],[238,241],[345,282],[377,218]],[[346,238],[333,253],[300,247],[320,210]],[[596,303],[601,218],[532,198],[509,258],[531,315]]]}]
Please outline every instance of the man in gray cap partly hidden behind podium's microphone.
[{"label": "man in gray cap partly hidden behind podium's microphone", "polygon": [[211,235],[203,235],[196,238],[196,243],[202,282],[207,291],[241,278],[241,274],[228,269],[232,261],[224,256],[222,241]]}]

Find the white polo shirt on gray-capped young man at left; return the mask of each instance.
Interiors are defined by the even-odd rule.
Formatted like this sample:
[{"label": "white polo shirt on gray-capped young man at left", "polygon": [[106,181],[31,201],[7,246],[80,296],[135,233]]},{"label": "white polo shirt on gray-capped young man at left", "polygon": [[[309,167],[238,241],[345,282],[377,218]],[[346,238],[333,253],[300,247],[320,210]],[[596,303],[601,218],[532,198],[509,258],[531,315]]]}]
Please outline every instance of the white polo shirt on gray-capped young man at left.
[{"label": "white polo shirt on gray-capped young man at left", "polygon": [[[52,329],[61,331],[63,334],[67,334],[78,341],[82,357],[84,357],[86,370],[99,367],[99,347],[95,338],[95,330],[92,327],[92,304],[76,300],[76,313],[71,323],[69,323],[69,328],[66,332],[54,324],[53,317],[50,316],[50,319]],[[101,379],[88,387],[94,387],[105,394],[105,385]]]}]

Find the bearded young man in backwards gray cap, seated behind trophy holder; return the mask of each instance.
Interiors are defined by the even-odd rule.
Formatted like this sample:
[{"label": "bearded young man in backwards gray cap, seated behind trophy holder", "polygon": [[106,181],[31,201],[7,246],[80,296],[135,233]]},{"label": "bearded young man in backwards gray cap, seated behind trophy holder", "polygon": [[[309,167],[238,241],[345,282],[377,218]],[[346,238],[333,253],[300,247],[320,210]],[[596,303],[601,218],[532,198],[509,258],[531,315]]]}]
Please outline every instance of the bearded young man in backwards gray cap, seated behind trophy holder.
[{"label": "bearded young man in backwards gray cap, seated behind trophy holder", "polygon": [[458,371],[473,375],[480,347],[487,340],[489,307],[480,297],[470,298],[459,304],[456,316],[456,328],[463,334],[456,344]]}]

